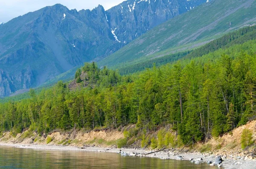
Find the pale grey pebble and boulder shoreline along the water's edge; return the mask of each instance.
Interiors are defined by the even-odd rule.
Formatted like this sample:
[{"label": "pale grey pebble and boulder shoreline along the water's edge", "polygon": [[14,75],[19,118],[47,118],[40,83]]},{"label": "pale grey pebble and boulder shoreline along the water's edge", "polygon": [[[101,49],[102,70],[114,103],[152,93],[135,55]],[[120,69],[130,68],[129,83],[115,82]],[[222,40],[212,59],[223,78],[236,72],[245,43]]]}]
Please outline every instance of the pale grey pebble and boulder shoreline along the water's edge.
[{"label": "pale grey pebble and boulder shoreline along the water's edge", "polygon": [[[172,150],[165,150],[161,152],[155,152],[149,155],[145,155],[151,151],[149,149],[131,149],[131,148],[108,148],[108,147],[97,147],[97,146],[86,146],[84,148],[76,147],[76,146],[57,146],[57,145],[42,145],[42,144],[8,144],[1,143],[0,146],[9,146],[20,149],[43,149],[43,150],[62,150],[62,151],[84,151],[84,152],[110,152],[110,153],[119,153],[122,152],[121,155],[124,156],[137,156],[137,157],[150,157],[150,158],[160,158],[163,160],[184,160],[190,161],[194,159],[203,159],[200,163],[207,163],[207,161],[215,162],[215,155],[213,154],[201,154],[201,153],[177,153]],[[120,151],[121,150],[121,151]],[[180,156],[182,158],[180,158]],[[222,167],[225,169],[255,169],[256,160],[244,160],[241,158],[239,160],[234,160],[231,157],[222,156],[223,162]],[[195,163],[196,165],[196,163]]]}]

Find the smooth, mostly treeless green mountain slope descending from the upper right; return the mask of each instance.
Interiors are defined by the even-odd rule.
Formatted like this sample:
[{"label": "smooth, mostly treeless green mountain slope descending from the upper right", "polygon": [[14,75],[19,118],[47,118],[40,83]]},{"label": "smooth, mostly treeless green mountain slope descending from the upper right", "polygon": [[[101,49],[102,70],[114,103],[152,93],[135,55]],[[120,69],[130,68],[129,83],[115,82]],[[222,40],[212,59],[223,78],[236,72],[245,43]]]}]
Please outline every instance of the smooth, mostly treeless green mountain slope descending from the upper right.
[{"label": "smooth, mostly treeless green mountain slope descending from the upper right", "polygon": [[255,0],[213,0],[151,29],[99,62],[123,68],[197,48],[227,32],[256,23]]}]

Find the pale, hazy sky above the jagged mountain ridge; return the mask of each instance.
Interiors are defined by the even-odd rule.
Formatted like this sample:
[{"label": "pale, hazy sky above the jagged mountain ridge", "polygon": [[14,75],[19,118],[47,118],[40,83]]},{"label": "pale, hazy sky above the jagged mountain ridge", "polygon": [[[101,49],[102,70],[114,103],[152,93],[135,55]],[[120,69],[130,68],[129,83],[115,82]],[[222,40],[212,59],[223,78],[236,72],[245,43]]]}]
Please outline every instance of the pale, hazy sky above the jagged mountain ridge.
[{"label": "pale, hazy sky above the jagged mountain ridge", "polygon": [[61,3],[69,9],[93,9],[99,4],[107,10],[122,3],[125,0],[0,0],[0,23],[36,11],[45,6],[52,6]]}]

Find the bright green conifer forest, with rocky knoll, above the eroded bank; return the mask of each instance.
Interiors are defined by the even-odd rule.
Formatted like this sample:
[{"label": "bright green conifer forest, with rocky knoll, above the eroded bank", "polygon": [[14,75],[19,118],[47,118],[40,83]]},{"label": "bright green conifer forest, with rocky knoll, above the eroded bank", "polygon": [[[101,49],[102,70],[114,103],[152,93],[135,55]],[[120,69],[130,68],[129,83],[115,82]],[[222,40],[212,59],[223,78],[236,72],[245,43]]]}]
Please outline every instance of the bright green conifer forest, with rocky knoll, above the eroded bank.
[{"label": "bright green conifer forest, with rocky knoll, above the eroded bank", "polygon": [[185,144],[218,136],[255,118],[255,54],[256,41],[247,41],[131,76],[86,63],[71,83],[0,104],[0,130],[48,133],[127,124],[157,130],[170,124]]}]

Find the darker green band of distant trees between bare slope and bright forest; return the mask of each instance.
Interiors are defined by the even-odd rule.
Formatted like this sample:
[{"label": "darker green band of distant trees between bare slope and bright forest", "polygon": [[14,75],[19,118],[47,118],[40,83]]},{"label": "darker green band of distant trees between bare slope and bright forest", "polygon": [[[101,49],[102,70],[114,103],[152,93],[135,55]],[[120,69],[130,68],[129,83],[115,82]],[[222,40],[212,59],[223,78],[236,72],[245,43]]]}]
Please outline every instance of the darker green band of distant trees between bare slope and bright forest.
[{"label": "darker green band of distant trees between bare slope and bright forest", "polygon": [[212,42],[209,42],[206,45],[203,45],[200,48],[196,48],[192,51],[167,54],[165,56],[160,55],[159,57],[155,58],[140,59],[137,62],[130,62],[128,64],[120,64],[118,66],[114,66],[114,68],[118,68],[120,74],[135,73],[137,71],[145,70],[145,68],[152,68],[154,64],[156,66],[160,66],[166,63],[177,61],[183,57],[184,59],[201,57],[220,48],[227,48],[232,45],[243,44],[244,42],[253,39],[256,39],[256,26],[248,26],[228,33],[223,37],[215,39]]}]

